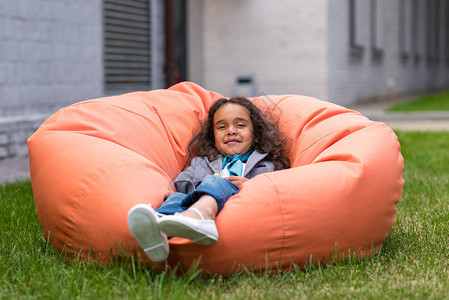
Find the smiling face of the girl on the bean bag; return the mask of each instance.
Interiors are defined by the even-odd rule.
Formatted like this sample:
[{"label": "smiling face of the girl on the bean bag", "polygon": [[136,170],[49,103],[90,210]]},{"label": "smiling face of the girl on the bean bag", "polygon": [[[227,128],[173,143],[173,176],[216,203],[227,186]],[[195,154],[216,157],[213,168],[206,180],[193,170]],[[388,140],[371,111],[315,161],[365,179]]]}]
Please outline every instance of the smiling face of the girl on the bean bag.
[{"label": "smiling face of the girl on the bean bag", "polygon": [[254,126],[249,111],[238,104],[229,103],[214,114],[215,147],[224,156],[245,154],[254,142]]}]

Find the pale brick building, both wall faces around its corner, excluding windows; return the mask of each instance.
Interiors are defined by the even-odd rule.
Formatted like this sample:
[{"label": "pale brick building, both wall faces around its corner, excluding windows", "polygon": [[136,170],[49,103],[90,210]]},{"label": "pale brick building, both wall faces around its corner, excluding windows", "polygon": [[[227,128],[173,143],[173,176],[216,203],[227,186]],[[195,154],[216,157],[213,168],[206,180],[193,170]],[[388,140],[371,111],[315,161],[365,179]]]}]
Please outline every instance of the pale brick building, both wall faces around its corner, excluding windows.
[{"label": "pale brick building, both wall faces around its corner, excluding windows", "polygon": [[[421,60],[403,63],[399,0],[377,0],[382,6],[380,60],[372,58],[371,0],[356,0],[361,13],[357,30],[365,47],[360,58],[349,55],[347,0],[196,0],[202,4],[202,20],[195,25],[201,38],[191,49],[202,52],[202,59],[191,58],[196,73],[190,76],[210,90],[232,95],[237,76],[248,74],[254,76],[256,94],[305,94],[342,105],[447,89],[444,56],[438,65],[429,65],[425,55],[426,1],[418,0]],[[443,14],[440,47],[447,53]]]}]

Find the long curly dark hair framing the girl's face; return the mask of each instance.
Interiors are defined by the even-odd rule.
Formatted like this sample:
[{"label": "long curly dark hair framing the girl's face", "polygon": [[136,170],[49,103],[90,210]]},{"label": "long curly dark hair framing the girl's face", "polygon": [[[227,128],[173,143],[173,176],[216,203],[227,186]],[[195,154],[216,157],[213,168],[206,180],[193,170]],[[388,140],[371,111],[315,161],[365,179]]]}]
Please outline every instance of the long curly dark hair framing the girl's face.
[{"label": "long curly dark hair framing the girl's face", "polygon": [[265,116],[257,106],[245,97],[221,98],[211,106],[200,131],[189,143],[189,157],[193,151],[197,155],[207,157],[209,160],[217,158],[220,153],[215,148],[214,115],[220,107],[230,103],[241,105],[249,112],[254,126],[254,144],[252,149],[260,153],[266,153],[267,159],[274,163],[275,170],[289,168],[290,160],[285,155],[287,139],[279,130],[277,122],[270,121],[271,115],[269,117]]}]

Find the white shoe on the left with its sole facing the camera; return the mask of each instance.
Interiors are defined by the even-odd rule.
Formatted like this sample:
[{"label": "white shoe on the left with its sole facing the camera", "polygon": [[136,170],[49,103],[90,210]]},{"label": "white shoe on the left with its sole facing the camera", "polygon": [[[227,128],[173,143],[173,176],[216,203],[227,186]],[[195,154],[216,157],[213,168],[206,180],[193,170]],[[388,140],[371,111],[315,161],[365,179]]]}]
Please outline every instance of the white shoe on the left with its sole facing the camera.
[{"label": "white shoe on the left with its sole facing the camera", "polygon": [[155,262],[168,257],[167,236],[159,230],[158,215],[150,205],[137,204],[128,212],[128,227],[147,256]]}]

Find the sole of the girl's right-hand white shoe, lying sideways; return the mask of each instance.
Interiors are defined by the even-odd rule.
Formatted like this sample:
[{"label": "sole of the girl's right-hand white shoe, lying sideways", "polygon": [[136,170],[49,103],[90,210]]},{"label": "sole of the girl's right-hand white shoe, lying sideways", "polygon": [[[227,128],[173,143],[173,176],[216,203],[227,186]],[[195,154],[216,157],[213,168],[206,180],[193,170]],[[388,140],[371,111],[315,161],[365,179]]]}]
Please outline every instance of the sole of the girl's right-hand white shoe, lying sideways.
[{"label": "sole of the girl's right-hand white shoe, lying sideways", "polygon": [[190,222],[183,221],[166,216],[159,222],[159,229],[169,237],[185,238],[199,245],[212,245],[217,242],[217,237],[201,231]]}]

